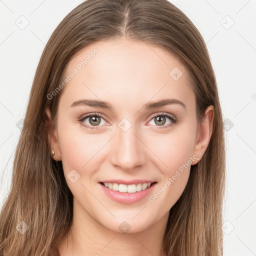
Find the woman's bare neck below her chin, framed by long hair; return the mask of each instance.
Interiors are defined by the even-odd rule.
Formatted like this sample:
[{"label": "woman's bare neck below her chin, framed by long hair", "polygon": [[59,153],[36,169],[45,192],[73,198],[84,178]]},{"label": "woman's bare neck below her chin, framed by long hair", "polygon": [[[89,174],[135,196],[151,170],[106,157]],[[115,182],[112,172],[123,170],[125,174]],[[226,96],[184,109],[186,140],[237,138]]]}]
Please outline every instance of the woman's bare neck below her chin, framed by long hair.
[{"label": "woman's bare neck below her chin, framed by long hair", "polygon": [[165,256],[162,244],[168,213],[144,230],[122,233],[95,221],[74,200],[71,228],[58,246],[59,255]]}]

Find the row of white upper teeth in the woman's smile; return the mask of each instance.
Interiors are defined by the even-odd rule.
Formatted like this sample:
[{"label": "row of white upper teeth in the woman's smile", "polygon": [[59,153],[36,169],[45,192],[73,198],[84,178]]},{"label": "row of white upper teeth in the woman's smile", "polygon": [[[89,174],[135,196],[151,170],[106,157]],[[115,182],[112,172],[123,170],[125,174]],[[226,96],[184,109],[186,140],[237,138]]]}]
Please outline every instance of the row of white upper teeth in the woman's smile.
[{"label": "row of white upper teeth in the woman's smile", "polygon": [[150,182],[148,183],[138,183],[138,184],[130,184],[130,185],[125,185],[125,184],[117,184],[117,183],[108,183],[104,182],[104,186],[108,187],[109,189],[123,192],[123,193],[135,193],[139,192],[141,190],[145,190],[147,187],[151,185]]}]

